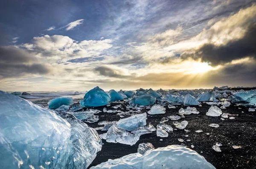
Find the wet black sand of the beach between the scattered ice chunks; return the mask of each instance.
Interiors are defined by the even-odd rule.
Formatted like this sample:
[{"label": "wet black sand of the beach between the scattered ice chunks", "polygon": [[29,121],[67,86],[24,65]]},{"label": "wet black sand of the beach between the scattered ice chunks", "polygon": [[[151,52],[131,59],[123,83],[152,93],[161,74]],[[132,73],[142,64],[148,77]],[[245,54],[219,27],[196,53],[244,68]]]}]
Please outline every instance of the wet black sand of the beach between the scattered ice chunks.
[{"label": "wet black sand of the beach between the scattered ice chunks", "polygon": [[[117,103],[119,104],[119,103]],[[125,103],[127,104],[127,103]],[[112,106],[116,103],[112,103],[110,107],[106,107],[107,110],[113,110]],[[178,113],[180,107],[177,106],[175,109],[169,109],[168,104],[166,104],[166,113],[159,115],[148,115],[147,124],[151,122],[154,127],[160,123],[161,118],[167,117],[169,115],[175,115]],[[168,146],[172,144],[181,144],[178,138],[184,140],[183,144],[186,144],[190,149],[195,150],[199,154],[203,155],[207,161],[212,163],[217,169],[221,168],[237,168],[253,169],[256,166],[256,112],[248,112],[248,107],[238,106],[234,104],[227,107],[227,109],[221,109],[223,113],[230,113],[235,116],[235,119],[225,118],[222,121],[219,117],[210,117],[206,115],[210,105],[202,104],[202,107],[194,106],[200,112],[199,114],[185,115],[185,118],[178,120],[181,122],[186,120],[189,124],[186,126],[187,130],[191,132],[185,132],[184,130],[174,130],[173,133],[169,133],[167,138],[157,137],[156,131],[151,134],[145,134],[140,136],[140,140],[133,146],[119,144],[119,143],[108,143],[102,140],[104,145],[102,145],[102,150],[98,152],[96,158],[90,166],[95,166],[99,163],[108,161],[108,159],[120,158],[124,155],[137,152],[138,145],[141,143],[150,142],[155,148]],[[220,106],[218,106],[220,107]],[[103,110],[104,107],[97,107],[98,110]],[[147,112],[147,110],[142,110],[141,113]],[[128,111],[128,110],[125,110]],[[244,113],[241,113],[244,111]],[[117,113],[98,113],[99,121],[118,121],[120,119]],[[125,116],[128,117],[128,116]],[[124,117],[124,118],[125,118]],[[230,116],[231,117],[231,116]],[[99,122],[98,121],[98,122]],[[87,123],[90,127],[102,127],[96,123]],[[174,129],[175,126],[172,124],[173,121],[167,121],[166,124],[171,125]],[[211,123],[219,124],[220,127],[213,128],[208,125]],[[195,130],[203,130],[203,132],[197,133]],[[99,134],[105,133],[103,131],[97,130]],[[210,133],[207,135],[206,133]],[[185,135],[189,135],[185,137]],[[160,141],[163,139],[163,141]],[[186,141],[190,139],[191,141]],[[221,143],[221,152],[215,152],[212,146],[215,143]],[[191,145],[194,148],[191,148]],[[232,146],[241,146],[240,149],[234,149]],[[90,168],[89,166],[89,168]]]}]

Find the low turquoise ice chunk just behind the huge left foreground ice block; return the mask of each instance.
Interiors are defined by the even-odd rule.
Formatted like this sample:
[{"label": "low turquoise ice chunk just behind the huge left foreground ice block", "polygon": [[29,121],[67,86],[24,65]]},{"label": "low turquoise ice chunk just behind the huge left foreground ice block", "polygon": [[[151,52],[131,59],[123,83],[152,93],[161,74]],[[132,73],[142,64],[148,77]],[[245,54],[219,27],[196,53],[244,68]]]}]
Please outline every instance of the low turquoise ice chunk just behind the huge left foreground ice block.
[{"label": "low turquoise ice chunk just behind the huge left foreground ice block", "polygon": [[49,109],[57,109],[62,105],[70,106],[71,104],[74,104],[74,101],[72,97],[57,97],[48,101],[47,104],[49,105]]}]

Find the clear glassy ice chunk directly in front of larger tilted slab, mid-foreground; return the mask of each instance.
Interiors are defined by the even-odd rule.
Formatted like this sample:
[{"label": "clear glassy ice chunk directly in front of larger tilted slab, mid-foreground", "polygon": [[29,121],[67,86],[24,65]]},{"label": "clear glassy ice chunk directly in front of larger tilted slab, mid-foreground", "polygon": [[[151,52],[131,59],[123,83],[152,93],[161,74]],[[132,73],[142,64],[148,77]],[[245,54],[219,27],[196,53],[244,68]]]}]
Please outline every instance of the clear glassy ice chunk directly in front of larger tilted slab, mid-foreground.
[{"label": "clear glassy ice chunk directly in front of larger tilted slab, mid-foreground", "polygon": [[140,135],[131,134],[123,128],[119,128],[113,124],[107,132],[106,141],[109,143],[121,143],[134,145],[140,139]]}]

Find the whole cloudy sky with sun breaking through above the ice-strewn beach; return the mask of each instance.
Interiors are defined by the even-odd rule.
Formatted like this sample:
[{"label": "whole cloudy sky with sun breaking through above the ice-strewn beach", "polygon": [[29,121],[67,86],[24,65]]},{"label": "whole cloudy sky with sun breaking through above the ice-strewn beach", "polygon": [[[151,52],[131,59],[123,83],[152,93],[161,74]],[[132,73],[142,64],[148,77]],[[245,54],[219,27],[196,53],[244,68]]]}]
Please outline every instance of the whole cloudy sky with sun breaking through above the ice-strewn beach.
[{"label": "whole cloudy sky with sun breaking through above the ice-strewn beach", "polygon": [[8,0],[0,16],[0,90],[256,86],[256,0]]}]

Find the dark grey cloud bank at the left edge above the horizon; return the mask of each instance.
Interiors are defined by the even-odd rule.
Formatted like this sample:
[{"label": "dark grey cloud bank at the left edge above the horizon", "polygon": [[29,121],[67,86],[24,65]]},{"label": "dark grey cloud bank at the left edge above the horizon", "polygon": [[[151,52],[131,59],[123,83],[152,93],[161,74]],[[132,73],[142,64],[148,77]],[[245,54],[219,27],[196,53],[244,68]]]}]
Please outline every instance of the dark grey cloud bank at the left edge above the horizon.
[{"label": "dark grey cloud bank at the left edge above the horizon", "polygon": [[15,48],[0,47],[0,76],[1,78],[17,77],[31,74],[46,74],[50,69],[43,64],[36,63],[32,53]]}]

